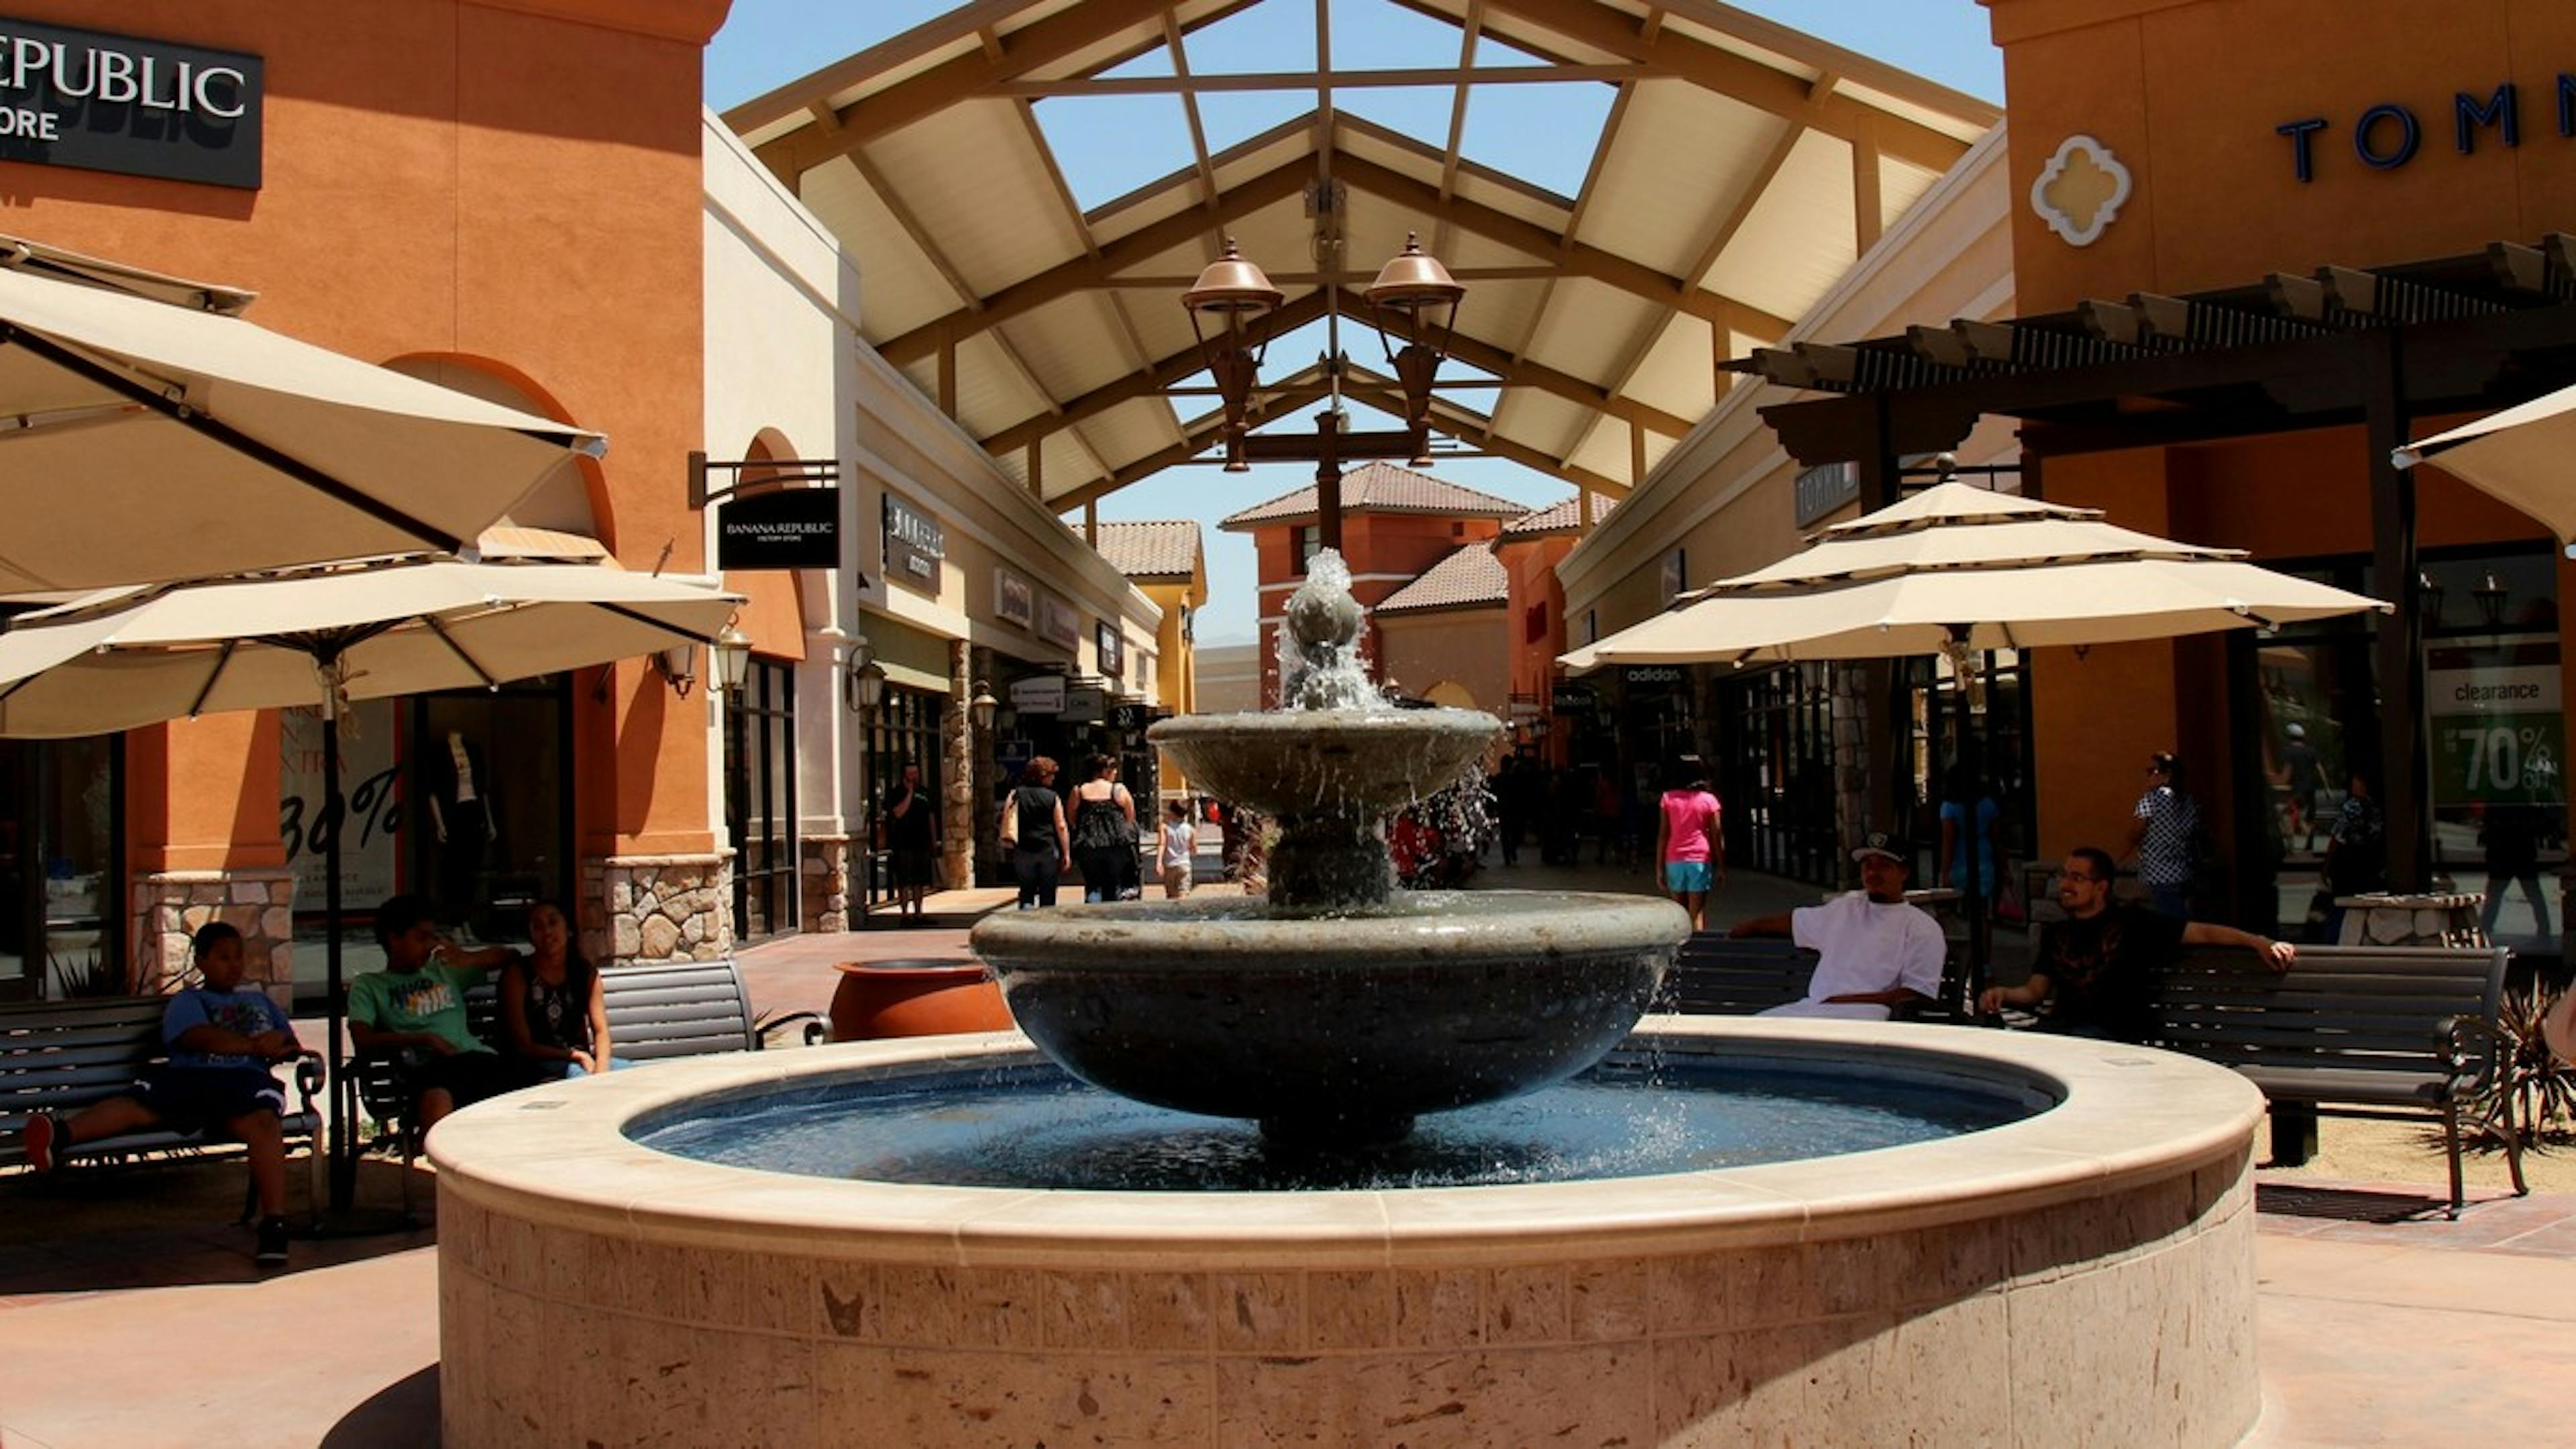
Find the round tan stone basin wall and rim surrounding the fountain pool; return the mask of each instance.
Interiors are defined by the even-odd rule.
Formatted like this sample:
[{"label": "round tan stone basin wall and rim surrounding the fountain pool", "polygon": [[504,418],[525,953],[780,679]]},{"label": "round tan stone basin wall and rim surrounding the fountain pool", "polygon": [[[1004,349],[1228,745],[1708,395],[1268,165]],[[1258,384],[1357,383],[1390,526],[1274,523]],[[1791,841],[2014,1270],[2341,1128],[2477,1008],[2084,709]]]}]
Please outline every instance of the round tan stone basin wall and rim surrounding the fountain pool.
[{"label": "round tan stone basin wall and rim surrounding the fountain pool", "polygon": [[1018,1034],[608,1073],[430,1134],[446,1444],[2200,1446],[2251,1428],[2262,1098],[2233,1073],[1847,1021],[1649,1018],[1628,1047],[2053,1106],[1723,1171],[1033,1191],[634,1140],[747,1098],[1025,1073]]}]

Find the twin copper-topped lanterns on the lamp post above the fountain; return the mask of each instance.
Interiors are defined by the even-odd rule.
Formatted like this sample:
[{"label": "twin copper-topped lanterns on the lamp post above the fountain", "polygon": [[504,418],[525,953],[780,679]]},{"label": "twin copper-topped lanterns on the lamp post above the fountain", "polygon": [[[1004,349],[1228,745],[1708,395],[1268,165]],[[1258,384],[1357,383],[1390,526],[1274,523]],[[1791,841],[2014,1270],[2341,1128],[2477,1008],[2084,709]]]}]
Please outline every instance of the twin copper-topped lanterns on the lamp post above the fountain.
[{"label": "twin copper-topped lanterns on the lamp post above the fountain", "polygon": [[[1329,286],[1329,284],[1327,284]],[[1314,521],[1316,541],[1327,549],[1342,547],[1342,462],[1406,459],[1430,467],[1432,382],[1448,356],[1458,322],[1458,299],[1466,286],[1422,250],[1422,240],[1409,235],[1404,253],[1378,268],[1368,284],[1368,307],[1386,348],[1386,361],[1396,371],[1404,392],[1404,428],[1352,433],[1342,413],[1342,358],[1324,358],[1332,379],[1332,405],[1316,413],[1314,438],[1293,433],[1249,436],[1252,389],[1260,382],[1262,356],[1270,345],[1265,317],[1278,312],[1285,294],[1270,284],[1260,266],[1244,260],[1234,237],[1226,253],[1198,273],[1198,284],[1180,297],[1190,312],[1190,333],[1198,338],[1224,402],[1226,472],[1247,472],[1262,462],[1314,462]],[[1404,343],[1401,348],[1396,343]]]}]

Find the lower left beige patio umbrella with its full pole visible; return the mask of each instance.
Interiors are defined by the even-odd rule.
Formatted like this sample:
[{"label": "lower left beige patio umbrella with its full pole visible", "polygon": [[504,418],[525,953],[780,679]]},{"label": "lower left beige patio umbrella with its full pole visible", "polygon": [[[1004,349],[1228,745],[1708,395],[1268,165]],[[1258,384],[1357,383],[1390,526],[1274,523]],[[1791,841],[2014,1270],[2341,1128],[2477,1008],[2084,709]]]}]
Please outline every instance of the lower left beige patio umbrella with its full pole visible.
[{"label": "lower left beige patio umbrella with its full pole visible", "polygon": [[[714,639],[742,603],[613,565],[386,559],[265,578],[113,588],[0,624],[0,735],[134,730],[227,709],[497,686]],[[343,1057],[340,730],[322,730],[332,1207],[355,1181],[355,1085]]]}]

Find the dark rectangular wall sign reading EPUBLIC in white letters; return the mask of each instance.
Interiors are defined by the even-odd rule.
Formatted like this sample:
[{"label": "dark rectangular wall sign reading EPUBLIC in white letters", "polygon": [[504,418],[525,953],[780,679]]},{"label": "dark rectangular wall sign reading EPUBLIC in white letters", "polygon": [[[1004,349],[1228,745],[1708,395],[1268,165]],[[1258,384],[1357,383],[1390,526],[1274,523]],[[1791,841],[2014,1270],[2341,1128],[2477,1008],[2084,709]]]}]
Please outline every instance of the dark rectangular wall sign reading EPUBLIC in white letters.
[{"label": "dark rectangular wall sign reading EPUBLIC in white letters", "polygon": [[260,188],[263,62],[0,18],[0,160]]}]

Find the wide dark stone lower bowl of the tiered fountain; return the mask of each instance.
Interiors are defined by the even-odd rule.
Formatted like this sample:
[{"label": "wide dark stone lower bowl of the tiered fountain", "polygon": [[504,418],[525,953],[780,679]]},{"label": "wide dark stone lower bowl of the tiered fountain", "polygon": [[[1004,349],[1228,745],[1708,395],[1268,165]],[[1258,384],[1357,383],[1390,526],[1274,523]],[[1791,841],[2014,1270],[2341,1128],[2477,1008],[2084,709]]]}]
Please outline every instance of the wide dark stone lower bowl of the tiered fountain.
[{"label": "wide dark stone lower bowl of the tiered fountain", "polygon": [[1638,895],[1422,892],[1332,918],[1072,905],[989,915],[971,941],[1020,1031],[1077,1078],[1350,1147],[1589,1067],[1687,933]]}]

